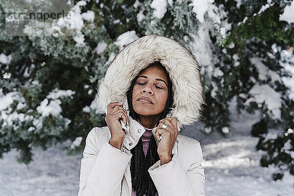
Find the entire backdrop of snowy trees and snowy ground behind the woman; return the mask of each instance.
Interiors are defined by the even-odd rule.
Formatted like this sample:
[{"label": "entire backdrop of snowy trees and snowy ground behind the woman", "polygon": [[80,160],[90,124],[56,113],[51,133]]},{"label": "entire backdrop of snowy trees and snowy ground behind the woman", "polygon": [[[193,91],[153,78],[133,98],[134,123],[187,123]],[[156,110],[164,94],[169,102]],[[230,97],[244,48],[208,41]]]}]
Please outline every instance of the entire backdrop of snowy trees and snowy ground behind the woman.
[{"label": "entire backdrop of snowy trees and snowy ground behind the woman", "polygon": [[149,33],[199,61],[206,195],[294,195],[293,0],[1,0],[1,196],[77,195],[98,81]]}]

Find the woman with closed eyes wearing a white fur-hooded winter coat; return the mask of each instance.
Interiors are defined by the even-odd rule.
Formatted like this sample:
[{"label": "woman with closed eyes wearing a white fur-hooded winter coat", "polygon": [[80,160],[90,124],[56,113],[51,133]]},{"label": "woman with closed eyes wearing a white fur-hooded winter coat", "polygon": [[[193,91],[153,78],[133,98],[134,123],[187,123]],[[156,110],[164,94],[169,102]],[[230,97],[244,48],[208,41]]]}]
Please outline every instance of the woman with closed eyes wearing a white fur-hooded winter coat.
[{"label": "woman with closed eyes wearing a white fur-hooded winter coat", "polygon": [[178,134],[205,104],[187,49],[156,34],[135,40],[113,59],[96,100],[107,126],[86,138],[78,196],[205,196],[200,143]]}]

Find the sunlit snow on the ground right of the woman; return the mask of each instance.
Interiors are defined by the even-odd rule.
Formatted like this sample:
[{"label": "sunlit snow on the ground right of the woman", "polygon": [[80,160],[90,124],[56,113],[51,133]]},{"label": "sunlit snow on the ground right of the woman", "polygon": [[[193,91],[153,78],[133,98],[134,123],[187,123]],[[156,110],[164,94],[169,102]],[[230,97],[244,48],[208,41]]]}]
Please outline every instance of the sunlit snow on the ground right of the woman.
[{"label": "sunlit snow on the ground right of the woman", "polygon": [[244,112],[238,118],[234,107],[235,104],[230,105],[232,123],[226,138],[219,133],[207,137],[192,131],[199,130],[200,123],[183,131],[201,144],[206,196],[293,196],[293,175],[287,172],[282,180],[274,181],[271,173],[276,169],[259,164],[266,152],[256,151],[258,138],[250,136],[250,126],[258,121],[259,114]]}]

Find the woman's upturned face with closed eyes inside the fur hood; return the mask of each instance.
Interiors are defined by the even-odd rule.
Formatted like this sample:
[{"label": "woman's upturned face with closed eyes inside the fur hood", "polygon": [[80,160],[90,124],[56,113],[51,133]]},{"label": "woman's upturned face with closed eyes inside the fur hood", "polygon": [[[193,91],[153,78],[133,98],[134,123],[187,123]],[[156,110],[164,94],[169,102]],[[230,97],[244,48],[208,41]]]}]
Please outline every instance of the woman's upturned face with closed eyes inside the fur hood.
[{"label": "woman's upturned face with closed eyes inside the fur hood", "polygon": [[134,111],[145,117],[160,116],[168,99],[167,84],[167,75],[162,67],[155,65],[142,71],[133,88]]}]

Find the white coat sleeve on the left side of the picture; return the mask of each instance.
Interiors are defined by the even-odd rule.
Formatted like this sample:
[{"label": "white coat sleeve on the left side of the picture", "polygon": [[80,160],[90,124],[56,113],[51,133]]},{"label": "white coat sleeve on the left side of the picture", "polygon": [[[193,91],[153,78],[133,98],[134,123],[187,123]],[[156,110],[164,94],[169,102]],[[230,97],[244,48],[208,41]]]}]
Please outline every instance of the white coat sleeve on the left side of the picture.
[{"label": "white coat sleeve on the left side of the picture", "polygon": [[86,138],[81,159],[78,196],[120,196],[123,174],[132,154],[109,142],[98,149],[97,137],[94,127]]}]

